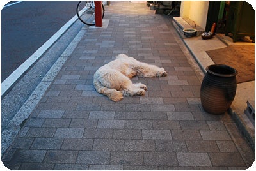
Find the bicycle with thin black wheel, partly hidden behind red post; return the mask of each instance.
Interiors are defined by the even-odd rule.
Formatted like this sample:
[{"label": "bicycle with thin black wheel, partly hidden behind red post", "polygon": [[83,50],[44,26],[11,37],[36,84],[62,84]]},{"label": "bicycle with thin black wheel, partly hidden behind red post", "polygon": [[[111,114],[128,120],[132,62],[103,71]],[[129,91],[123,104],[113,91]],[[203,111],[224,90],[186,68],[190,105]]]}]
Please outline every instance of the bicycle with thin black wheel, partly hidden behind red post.
[{"label": "bicycle with thin black wheel, partly hidden behind red post", "polygon": [[[102,5],[102,19],[104,17],[105,8]],[[79,20],[88,26],[95,25],[95,4],[94,1],[79,1],[76,7],[76,14]]]}]

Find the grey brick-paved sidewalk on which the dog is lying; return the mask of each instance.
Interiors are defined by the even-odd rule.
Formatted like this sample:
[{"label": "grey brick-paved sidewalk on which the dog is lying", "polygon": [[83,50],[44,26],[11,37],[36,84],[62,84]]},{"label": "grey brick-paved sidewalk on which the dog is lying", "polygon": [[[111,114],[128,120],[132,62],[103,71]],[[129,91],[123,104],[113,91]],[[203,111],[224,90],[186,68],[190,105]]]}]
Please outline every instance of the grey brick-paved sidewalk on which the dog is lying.
[{"label": "grey brick-paved sidewalk on which the dog is lying", "polygon": [[[254,153],[228,114],[200,105],[202,73],[172,18],[142,3],[111,1],[105,27],[87,27],[2,161],[12,170],[244,170]],[[93,74],[120,53],[163,66],[132,78],[145,96],[115,103]]]}]

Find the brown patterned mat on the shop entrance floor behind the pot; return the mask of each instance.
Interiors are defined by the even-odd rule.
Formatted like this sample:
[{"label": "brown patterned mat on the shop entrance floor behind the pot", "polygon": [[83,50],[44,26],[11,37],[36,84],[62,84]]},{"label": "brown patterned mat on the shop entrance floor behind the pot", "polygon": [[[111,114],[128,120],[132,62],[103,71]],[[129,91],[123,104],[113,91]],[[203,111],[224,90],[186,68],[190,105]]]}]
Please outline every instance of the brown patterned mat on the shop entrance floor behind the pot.
[{"label": "brown patterned mat on the shop entrance floor behind the pot", "polygon": [[237,83],[254,80],[254,45],[229,45],[206,53],[215,64],[226,64],[238,72]]}]

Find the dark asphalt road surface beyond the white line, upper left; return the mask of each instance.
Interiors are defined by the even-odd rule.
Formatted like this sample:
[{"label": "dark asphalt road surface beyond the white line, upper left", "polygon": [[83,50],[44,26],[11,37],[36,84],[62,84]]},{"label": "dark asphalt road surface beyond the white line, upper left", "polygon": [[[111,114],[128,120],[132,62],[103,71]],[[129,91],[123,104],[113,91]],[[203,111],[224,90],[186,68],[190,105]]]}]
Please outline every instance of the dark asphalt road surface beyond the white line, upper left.
[{"label": "dark asphalt road surface beyond the white line, upper left", "polygon": [[2,9],[1,82],[76,15],[77,3],[22,1]]}]

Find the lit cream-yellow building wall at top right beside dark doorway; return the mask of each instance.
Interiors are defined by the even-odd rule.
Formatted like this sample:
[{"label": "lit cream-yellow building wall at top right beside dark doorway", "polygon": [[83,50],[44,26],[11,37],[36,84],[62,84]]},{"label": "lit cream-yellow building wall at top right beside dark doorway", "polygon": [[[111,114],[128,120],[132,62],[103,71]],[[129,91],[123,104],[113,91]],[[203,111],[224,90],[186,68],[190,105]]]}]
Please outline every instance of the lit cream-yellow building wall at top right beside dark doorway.
[{"label": "lit cream-yellow building wall at top right beside dark doorway", "polygon": [[181,1],[180,17],[189,17],[197,26],[205,29],[209,1]]}]

